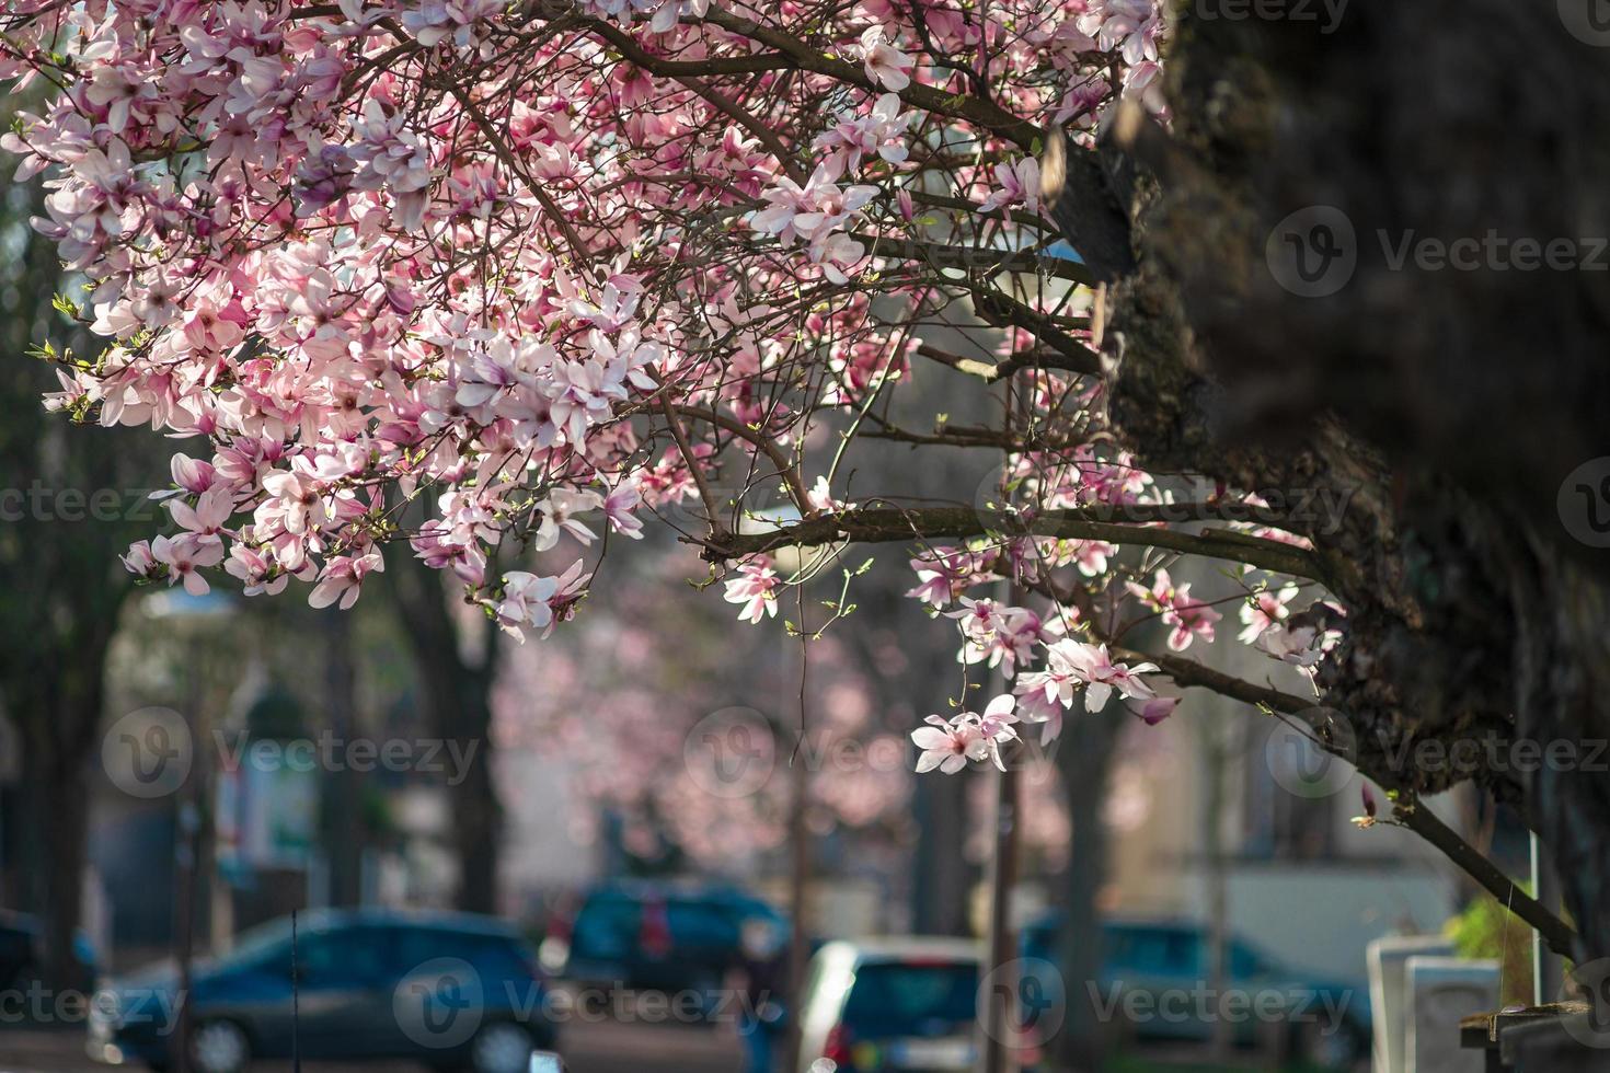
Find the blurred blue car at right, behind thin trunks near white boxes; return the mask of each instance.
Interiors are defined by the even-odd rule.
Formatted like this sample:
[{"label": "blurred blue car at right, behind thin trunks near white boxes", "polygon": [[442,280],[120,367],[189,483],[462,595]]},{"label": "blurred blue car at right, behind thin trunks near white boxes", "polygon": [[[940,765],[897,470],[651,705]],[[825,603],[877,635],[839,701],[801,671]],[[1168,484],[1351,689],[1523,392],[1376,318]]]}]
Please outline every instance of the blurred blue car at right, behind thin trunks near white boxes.
[{"label": "blurred blue car at right, behind thin trunks near white boxes", "polygon": [[[1368,1055],[1370,999],[1364,986],[1314,980],[1232,936],[1225,994],[1208,994],[1212,972],[1203,925],[1106,920],[1100,980],[1095,988],[1069,983],[1087,994],[1066,994],[1063,975],[1055,970],[1058,927],[1059,917],[1048,915],[1022,930],[1022,956],[1032,959],[1024,993],[1034,1002],[1095,1002],[1098,1017],[1143,1041],[1206,1041],[1214,1018],[1225,1017],[1236,1042],[1283,1031],[1288,1052],[1323,1067],[1348,1068]],[[1034,972],[1035,965],[1040,972]]]}]

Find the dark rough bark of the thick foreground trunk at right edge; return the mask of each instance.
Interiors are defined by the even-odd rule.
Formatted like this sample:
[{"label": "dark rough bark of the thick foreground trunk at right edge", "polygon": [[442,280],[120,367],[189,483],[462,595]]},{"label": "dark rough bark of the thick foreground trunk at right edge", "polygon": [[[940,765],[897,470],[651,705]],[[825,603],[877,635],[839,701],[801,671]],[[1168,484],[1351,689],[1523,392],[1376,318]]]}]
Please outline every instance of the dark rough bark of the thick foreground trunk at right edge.
[{"label": "dark rough bark of the thick foreground trunk at right edge", "polygon": [[[1610,455],[1610,282],[1488,241],[1604,257],[1610,51],[1555,5],[1349,5],[1319,26],[1179,13],[1172,130],[1114,127],[1156,183],[1114,183],[1140,267],[1109,294],[1104,351],[1116,423],[1153,467],[1349,495],[1306,534],[1349,606],[1323,703],[1360,766],[1417,796],[1462,774],[1394,761],[1404,745],[1610,737],[1610,560],[1555,505]],[[1265,259],[1309,206],[1344,214],[1356,257],[1317,298]],[[1422,238],[1486,245],[1472,270],[1394,265]],[[1475,780],[1542,835],[1581,952],[1610,954],[1610,779],[1517,767]]]}]

